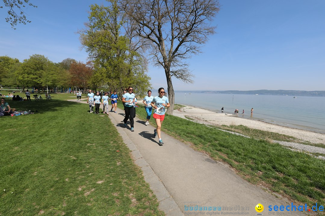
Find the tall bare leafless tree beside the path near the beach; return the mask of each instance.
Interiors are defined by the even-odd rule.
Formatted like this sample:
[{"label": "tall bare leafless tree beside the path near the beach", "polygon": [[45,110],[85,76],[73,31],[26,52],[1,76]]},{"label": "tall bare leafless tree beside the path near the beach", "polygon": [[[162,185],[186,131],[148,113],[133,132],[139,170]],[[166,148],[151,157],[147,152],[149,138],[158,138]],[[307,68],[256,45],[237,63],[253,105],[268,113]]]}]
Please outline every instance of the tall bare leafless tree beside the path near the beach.
[{"label": "tall bare leafless tree beside the path near the beach", "polygon": [[172,114],[175,94],[172,77],[193,82],[186,59],[200,52],[215,27],[210,23],[220,10],[218,0],[120,0],[137,36],[146,40],[155,65],[165,70]]}]

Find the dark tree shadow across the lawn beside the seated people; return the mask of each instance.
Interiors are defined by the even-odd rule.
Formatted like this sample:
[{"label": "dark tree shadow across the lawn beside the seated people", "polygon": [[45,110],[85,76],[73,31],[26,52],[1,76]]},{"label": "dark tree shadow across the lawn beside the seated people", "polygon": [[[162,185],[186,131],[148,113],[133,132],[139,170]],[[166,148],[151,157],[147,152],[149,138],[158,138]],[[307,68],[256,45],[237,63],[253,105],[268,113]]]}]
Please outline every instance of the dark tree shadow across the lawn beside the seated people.
[{"label": "dark tree shadow across the lawn beside the seated people", "polygon": [[[77,102],[64,101],[64,100],[42,100],[42,101],[11,101],[6,99],[6,102],[9,104],[10,108],[15,108],[17,111],[28,111],[34,110],[38,113],[53,112],[60,110],[63,107],[71,107],[77,104]],[[88,110],[89,111],[89,110]]]}]

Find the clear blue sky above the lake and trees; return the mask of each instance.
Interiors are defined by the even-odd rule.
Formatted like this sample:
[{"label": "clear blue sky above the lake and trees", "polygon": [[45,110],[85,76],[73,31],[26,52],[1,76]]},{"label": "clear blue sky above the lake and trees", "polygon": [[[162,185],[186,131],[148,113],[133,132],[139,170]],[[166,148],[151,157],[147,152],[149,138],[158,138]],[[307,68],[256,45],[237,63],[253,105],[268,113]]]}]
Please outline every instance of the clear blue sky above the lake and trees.
[{"label": "clear blue sky above the lake and trees", "polygon": [[[2,1],[1,1],[2,2]],[[42,54],[53,62],[86,62],[78,29],[90,4],[105,0],[30,0],[25,12],[32,23],[17,30],[0,9],[0,56],[20,61]],[[173,80],[175,90],[325,90],[324,0],[220,0],[212,25],[216,34],[202,53],[188,60],[193,84]],[[2,3],[0,4],[2,5]],[[152,87],[167,87],[162,68],[149,65]]]}]

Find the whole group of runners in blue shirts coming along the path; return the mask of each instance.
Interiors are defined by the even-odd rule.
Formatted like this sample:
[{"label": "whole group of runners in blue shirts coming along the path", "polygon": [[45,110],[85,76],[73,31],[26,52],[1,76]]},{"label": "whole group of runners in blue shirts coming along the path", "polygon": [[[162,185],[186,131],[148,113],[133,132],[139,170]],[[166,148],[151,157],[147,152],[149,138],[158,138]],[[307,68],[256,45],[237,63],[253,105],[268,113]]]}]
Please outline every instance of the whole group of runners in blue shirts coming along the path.
[{"label": "whole group of runners in blue shirts coming along the path", "polygon": [[[165,118],[165,108],[170,107],[170,103],[168,100],[168,97],[165,96],[165,90],[164,88],[159,88],[158,90],[158,96],[153,97],[151,96],[151,91],[148,91],[148,96],[143,98],[143,104],[145,105],[145,109],[147,112],[147,117],[146,117],[146,122],[145,125],[149,125],[149,120],[152,114],[152,109],[153,111],[153,118],[155,119],[156,122],[156,129],[153,131],[153,137],[156,138],[158,135],[159,138],[159,145],[163,144],[163,141],[161,139],[161,126],[162,126],[162,121]],[[103,113],[107,113],[108,115],[108,101],[111,101],[111,109],[110,111],[114,109],[114,112],[116,112],[117,108],[117,100],[118,96],[116,92],[111,95],[111,97],[108,97],[108,93],[105,92],[104,96],[100,98],[99,92],[96,92],[96,95],[92,93],[91,90],[89,90],[88,97],[87,97],[87,103],[89,104],[89,109],[90,112],[93,112],[93,107],[95,105],[95,114],[99,113],[99,107],[101,104],[103,104]],[[133,92],[133,87],[129,86],[127,89],[124,90],[123,95],[122,95],[122,102],[124,106],[124,113],[125,117],[123,119],[123,126],[124,128],[127,127],[127,120],[130,121],[130,130],[134,131],[134,118],[136,117],[136,104],[137,104],[137,98],[135,96],[135,93]]]}]

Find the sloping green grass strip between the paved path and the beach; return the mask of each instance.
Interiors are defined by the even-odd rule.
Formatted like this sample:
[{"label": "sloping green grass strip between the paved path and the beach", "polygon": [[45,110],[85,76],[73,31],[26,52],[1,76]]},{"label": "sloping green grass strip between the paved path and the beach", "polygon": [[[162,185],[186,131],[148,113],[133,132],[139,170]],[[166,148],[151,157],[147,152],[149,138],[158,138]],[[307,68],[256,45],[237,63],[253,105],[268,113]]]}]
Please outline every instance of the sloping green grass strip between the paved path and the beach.
[{"label": "sloping green grass strip between the paved path and the beach", "polygon": [[[122,103],[119,108],[123,109]],[[136,108],[136,114],[145,121],[142,104]],[[155,126],[152,117],[150,124]],[[226,162],[255,185],[263,185],[310,207],[316,203],[325,204],[323,160],[293,152],[278,143],[245,138],[171,115],[166,115],[162,131],[188,143],[196,151],[207,153],[214,160]]]}]

